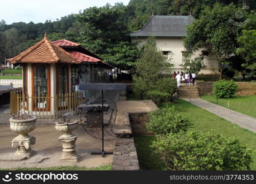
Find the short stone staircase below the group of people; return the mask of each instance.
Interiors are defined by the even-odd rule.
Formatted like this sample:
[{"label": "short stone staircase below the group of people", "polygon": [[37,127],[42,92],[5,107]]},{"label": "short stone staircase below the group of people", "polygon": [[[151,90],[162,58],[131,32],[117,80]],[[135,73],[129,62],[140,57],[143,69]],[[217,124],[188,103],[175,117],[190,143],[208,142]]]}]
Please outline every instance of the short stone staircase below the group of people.
[{"label": "short stone staircase below the group of people", "polygon": [[196,85],[182,85],[177,89],[178,98],[200,98]]}]

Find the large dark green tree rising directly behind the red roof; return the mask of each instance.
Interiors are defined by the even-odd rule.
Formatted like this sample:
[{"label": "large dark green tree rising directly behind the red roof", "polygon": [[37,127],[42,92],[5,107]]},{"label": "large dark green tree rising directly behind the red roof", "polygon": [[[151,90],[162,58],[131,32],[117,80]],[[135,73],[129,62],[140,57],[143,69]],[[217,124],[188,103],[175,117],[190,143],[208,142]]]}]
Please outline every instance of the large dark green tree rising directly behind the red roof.
[{"label": "large dark green tree rising directly behind the red roof", "polygon": [[120,40],[128,40],[128,28],[120,17],[125,13],[123,4],[103,7],[90,7],[78,15],[83,23],[80,33],[80,44],[89,50],[102,55],[107,53],[107,48],[113,48]]}]

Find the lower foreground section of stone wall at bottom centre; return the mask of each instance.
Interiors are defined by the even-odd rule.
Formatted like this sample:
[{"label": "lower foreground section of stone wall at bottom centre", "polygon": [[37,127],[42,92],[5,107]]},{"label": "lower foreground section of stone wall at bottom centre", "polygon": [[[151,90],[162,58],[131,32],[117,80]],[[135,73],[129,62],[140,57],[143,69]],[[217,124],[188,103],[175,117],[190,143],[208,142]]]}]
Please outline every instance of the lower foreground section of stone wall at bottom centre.
[{"label": "lower foreground section of stone wall at bottom centre", "polygon": [[139,161],[133,138],[115,140],[112,163],[114,171],[138,171]]}]

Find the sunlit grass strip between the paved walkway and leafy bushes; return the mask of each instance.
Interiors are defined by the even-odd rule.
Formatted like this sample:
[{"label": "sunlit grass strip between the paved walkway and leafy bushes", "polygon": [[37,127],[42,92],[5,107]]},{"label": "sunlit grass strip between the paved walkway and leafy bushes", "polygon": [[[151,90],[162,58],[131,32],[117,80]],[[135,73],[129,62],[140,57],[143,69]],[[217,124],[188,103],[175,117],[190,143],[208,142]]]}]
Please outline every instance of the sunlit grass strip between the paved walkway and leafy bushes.
[{"label": "sunlit grass strip between the paved walkway and leafy bushes", "polygon": [[[172,107],[173,104],[167,104],[165,107]],[[226,137],[236,137],[247,148],[252,151],[253,163],[250,165],[252,170],[256,170],[256,134],[241,128],[238,125],[217,117],[213,113],[210,113],[200,107],[196,107],[189,102],[179,100],[174,105],[176,110],[185,113],[193,120],[193,128],[200,129],[202,131],[213,131],[222,134]]]}]

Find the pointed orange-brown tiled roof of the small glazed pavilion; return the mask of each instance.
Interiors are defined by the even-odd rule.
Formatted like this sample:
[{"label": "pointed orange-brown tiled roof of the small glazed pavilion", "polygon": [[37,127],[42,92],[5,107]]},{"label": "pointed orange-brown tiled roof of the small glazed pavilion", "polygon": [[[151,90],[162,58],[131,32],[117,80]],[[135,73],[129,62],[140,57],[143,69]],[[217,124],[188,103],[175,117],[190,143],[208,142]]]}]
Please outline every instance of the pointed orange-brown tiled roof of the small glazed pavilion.
[{"label": "pointed orange-brown tiled roof of the small glazed pavilion", "polygon": [[53,44],[47,39],[38,42],[33,47],[15,56],[9,61],[15,63],[79,63],[76,58],[66,52],[63,48]]}]

